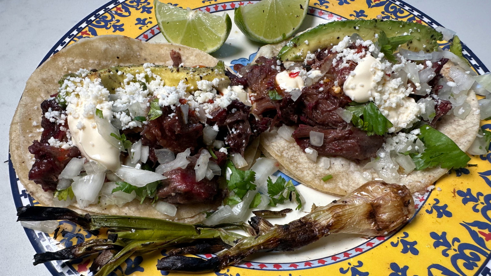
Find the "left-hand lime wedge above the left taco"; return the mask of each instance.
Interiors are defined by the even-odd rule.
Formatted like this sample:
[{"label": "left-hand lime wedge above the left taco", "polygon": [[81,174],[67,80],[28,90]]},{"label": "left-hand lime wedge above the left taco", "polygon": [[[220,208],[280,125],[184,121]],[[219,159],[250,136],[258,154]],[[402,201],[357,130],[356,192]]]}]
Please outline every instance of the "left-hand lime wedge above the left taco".
[{"label": "left-hand lime wedge above the left taco", "polygon": [[155,17],[168,42],[212,53],[223,45],[232,27],[228,14],[213,15],[155,0]]}]

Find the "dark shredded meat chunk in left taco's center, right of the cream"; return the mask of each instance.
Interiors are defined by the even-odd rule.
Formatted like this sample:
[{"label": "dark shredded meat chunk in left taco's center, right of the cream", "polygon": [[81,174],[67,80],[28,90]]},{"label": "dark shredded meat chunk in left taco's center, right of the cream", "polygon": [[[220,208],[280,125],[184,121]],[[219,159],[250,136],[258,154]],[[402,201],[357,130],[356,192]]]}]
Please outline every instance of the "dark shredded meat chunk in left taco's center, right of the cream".
[{"label": "dark shredded meat chunk in left taco's center, right of the cream", "polygon": [[[188,122],[184,121],[181,108],[172,110],[161,108],[162,115],[148,121],[143,128],[142,143],[150,148],[168,148],[175,153],[183,152],[191,147],[191,154],[196,152],[203,136],[203,125],[193,111],[188,112]],[[175,113],[172,117],[169,115]],[[154,155],[155,156],[155,155]],[[156,160],[152,160],[155,162]]]}]

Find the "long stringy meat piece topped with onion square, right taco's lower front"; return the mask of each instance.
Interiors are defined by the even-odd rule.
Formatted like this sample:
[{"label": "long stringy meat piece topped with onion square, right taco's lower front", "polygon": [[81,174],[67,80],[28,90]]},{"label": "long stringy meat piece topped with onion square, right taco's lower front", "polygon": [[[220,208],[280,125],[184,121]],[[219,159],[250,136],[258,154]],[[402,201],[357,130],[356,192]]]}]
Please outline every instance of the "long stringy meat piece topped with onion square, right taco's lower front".
[{"label": "long stringy meat piece topped with onion square, right taco's lower front", "polygon": [[[324,133],[324,143],[317,147],[310,144],[310,132]],[[377,150],[382,146],[383,136],[368,136],[366,132],[347,125],[338,129],[323,129],[300,125],[294,132],[293,138],[302,150],[307,147],[317,150],[323,156],[342,156],[351,160],[363,160],[375,157]]]}]

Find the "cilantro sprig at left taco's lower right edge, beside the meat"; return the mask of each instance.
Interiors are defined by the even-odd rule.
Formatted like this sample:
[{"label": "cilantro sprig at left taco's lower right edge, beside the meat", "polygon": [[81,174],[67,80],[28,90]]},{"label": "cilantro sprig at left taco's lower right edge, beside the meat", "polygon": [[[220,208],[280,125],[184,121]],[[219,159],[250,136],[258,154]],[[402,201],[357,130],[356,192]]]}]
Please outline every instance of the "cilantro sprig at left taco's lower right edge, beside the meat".
[{"label": "cilantro sprig at left taco's lower right edge, beside the meat", "polygon": [[225,198],[225,202],[239,203],[244,198],[244,195],[248,191],[256,190],[254,180],[256,180],[256,173],[252,170],[240,170],[234,166],[232,161],[227,161],[226,169],[230,170],[230,179],[227,180],[227,188],[229,193],[234,192],[234,195]]}]

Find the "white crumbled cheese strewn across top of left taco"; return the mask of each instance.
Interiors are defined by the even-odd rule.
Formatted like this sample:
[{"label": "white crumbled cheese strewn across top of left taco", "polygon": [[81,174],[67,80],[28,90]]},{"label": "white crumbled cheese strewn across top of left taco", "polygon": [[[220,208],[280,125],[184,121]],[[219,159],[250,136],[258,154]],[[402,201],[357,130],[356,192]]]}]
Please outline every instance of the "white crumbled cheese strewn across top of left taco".
[{"label": "white crumbled cheese strewn across top of left taco", "polygon": [[[152,74],[152,63],[143,65],[144,72],[132,75],[125,75],[123,86],[115,89],[114,93],[101,84],[101,80],[89,78],[90,71],[80,69],[75,74],[64,80],[58,89],[59,95],[67,103],[66,113],[51,111],[45,116],[52,122],[65,126],[65,120],[70,117],[78,120],[76,127],[78,130],[84,128],[95,128],[94,116],[96,110],[101,110],[104,119],[110,121],[119,130],[141,127],[146,121],[135,120],[136,116],[146,117],[147,109],[153,97],[158,99],[159,106],[170,106],[172,110],[182,105],[188,105],[189,110],[195,110],[197,114],[210,117],[210,112],[217,108],[226,108],[233,100],[239,99],[237,87],[219,87],[223,79],[215,78],[212,81],[198,81],[198,90],[187,92],[188,85],[181,81],[177,86],[167,86],[160,76]],[[122,71],[117,73],[122,75]],[[146,81],[149,77],[150,81]],[[242,87],[239,87],[242,88]],[[220,94],[217,89],[221,90]],[[189,91],[189,89],[188,89]],[[175,113],[170,114],[175,115]],[[204,119],[205,120],[205,119]],[[87,123],[88,122],[88,123]],[[62,129],[63,130],[63,129]],[[70,131],[67,131],[68,142],[60,142],[55,138],[50,139],[49,143],[55,147],[68,148],[73,146],[70,139]]]}]

